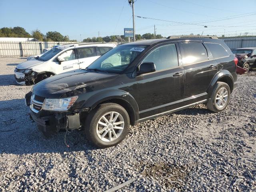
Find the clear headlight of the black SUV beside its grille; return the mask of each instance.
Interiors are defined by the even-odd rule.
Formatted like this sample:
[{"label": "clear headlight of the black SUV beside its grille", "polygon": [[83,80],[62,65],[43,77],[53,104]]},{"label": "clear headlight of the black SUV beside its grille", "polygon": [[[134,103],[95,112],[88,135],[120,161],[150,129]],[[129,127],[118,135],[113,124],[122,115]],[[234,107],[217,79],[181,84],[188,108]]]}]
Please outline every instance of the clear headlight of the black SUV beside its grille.
[{"label": "clear headlight of the black SUV beside its grille", "polygon": [[48,111],[67,111],[76,102],[77,98],[78,96],[62,99],[45,99],[42,109]]}]

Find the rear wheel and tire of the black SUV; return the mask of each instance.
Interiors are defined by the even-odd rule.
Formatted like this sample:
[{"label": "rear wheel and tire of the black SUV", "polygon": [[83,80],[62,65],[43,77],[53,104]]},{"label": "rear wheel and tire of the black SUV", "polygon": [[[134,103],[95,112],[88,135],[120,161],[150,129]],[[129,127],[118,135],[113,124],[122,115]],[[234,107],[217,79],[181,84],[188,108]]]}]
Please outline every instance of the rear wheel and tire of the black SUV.
[{"label": "rear wheel and tire of the black SUV", "polygon": [[230,88],[224,82],[217,82],[210,101],[207,103],[207,108],[213,112],[221,112],[226,108],[230,100]]}]

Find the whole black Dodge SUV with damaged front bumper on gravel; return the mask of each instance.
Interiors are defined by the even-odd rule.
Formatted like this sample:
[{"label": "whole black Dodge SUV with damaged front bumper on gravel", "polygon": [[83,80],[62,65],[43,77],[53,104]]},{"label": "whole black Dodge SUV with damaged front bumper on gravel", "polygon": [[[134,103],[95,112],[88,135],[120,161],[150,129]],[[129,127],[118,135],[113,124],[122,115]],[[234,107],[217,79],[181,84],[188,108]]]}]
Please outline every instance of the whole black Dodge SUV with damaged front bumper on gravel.
[{"label": "whole black Dodge SUV with damaged front bumper on gravel", "polygon": [[121,142],[139,122],[201,103],[224,110],[237,86],[236,64],[219,39],[142,40],[106,52],[84,70],[39,82],[25,100],[46,137],[84,130],[104,148]]}]

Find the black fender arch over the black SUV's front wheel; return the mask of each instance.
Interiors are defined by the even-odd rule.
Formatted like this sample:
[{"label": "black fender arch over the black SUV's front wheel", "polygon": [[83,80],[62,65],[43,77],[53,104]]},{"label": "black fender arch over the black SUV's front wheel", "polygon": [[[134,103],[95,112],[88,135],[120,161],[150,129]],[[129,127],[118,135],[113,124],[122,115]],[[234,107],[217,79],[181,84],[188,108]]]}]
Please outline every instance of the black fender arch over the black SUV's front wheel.
[{"label": "black fender arch over the black SUV's front wheel", "polygon": [[133,114],[129,114],[128,109],[126,109],[126,110],[129,114],[129,116],[132,115],[131,123],[136,122],[139,119],[138,104],[137,104],[136,100],[134,99],[134,97],[130,93],[128,93],[124,90],[105,90],[102,92],[98,92],[98,93],[90,96],[90,98],[88,98],[84,102],[83,108],[90,107],[90,110],[92,110],[98,104],[100,104],[102,102],[106,102],[109,100],[116,100],[116,99],[122,100],[123,102],[126,102],[126,104],[128,104],[130,106]]}]

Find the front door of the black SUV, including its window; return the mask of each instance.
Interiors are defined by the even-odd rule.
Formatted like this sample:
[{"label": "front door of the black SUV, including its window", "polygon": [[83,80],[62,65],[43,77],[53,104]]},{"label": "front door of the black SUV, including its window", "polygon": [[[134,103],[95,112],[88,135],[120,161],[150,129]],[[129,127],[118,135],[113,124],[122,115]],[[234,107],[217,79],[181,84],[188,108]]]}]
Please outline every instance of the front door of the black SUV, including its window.
[{"label": "front door of the black SUV, including its window", "polygon": [[136,77],[140,118],[180,106],[184,92],[184,69],[179,66],[179,56],[178,44],[168,43],[153,48],[142,60],[142,63],[153,62],[156,71]]}]

